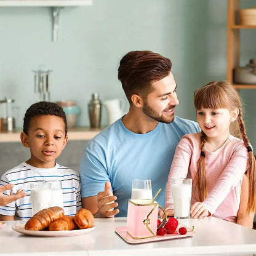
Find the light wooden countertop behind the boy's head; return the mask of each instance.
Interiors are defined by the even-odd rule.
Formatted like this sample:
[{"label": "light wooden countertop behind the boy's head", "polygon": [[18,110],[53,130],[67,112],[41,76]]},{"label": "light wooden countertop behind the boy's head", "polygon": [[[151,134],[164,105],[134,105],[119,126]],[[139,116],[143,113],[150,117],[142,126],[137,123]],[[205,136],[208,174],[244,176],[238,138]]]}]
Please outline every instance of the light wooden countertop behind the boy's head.
[{"label": "light wooden countertop behind the boy's head", "polygon": [[[90,129],[89,127],[75,127],[68,130],[69,140],[90,140],[95,137],[102,129]],[[14,132],[0,132],[1,142],[20,142],[21,129]]]}]

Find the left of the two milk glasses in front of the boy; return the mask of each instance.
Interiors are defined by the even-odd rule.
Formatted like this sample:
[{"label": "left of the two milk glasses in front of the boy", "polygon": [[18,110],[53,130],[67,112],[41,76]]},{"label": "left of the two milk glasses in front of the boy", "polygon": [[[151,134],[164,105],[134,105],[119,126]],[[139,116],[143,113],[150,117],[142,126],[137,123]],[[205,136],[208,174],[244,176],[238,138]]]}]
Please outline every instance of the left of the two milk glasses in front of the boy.
[{"label": "left of the two milk glasses in front of the boy", "polygon": [[50,184],[44,181],[31,183],[30,198],[33,215],[39,212],[39,210],[49,208],[51,198]]}]

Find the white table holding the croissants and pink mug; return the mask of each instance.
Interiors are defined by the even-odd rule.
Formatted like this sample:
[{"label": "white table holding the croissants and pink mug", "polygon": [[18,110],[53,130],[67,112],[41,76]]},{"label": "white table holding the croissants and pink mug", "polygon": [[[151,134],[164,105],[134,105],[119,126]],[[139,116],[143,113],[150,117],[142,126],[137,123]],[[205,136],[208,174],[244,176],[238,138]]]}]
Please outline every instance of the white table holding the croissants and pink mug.
[{"label": "white table holding the croissants and pink mug", "polygon": [[21,221],[7,222],[0,230],[0,255],[252,255],[256,254],[256,230],[214,217],[183,220],[196,234],[144,244],[128,244],[114,228],[126,218],[96,218],[95,230],[81,236],[45,238],[12,230]]}]

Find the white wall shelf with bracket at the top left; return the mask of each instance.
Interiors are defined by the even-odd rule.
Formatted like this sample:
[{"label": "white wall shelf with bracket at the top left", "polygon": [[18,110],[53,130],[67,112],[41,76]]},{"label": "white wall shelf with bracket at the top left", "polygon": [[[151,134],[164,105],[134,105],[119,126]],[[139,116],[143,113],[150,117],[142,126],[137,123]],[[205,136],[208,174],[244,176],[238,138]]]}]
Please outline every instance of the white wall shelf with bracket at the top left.
[{"label": "white wall shelf with bracket at the top left", "polygon": [[92,0],[0,0],[0,7],[51,7],[52,41],[58,41],[58,20],[64,7],[92,6]]}]

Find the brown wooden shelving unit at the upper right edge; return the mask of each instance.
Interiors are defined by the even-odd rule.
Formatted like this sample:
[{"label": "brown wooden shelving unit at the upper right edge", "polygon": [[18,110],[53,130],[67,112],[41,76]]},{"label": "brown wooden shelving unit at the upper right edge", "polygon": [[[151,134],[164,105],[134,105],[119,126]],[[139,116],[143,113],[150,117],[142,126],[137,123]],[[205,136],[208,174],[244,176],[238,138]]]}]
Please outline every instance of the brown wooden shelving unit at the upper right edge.
[{"label": "brown wooden shelving unit at the upper right edge", "polygon": [[[227,24],[227,70],[226,79],[234,84],[234,68],[239,67],[240,58],[240,30],[254,30],[256,25],[239,25],[238,11],[240,0],[228,0]],[[256,31],[254,31],[256,33]],[[256,89],[256,84],[234,84],[236,89]]]}]

